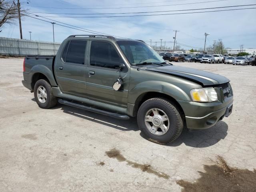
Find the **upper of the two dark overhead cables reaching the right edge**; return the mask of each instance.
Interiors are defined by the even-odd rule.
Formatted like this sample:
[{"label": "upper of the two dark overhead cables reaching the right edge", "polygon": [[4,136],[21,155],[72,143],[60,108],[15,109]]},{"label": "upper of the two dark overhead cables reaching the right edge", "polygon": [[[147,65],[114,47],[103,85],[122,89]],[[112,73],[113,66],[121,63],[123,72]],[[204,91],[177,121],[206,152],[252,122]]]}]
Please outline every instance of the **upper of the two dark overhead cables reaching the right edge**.
[{"label": "upper of the two dark overhead cables reaching the right edge", "polygon": [[224,7],[212,7],[212,8],[198,8],[198,9],[183,9],[183,10],[168,10],[168,11],[147,11],[147,12],[122,12],[122,13],[47,13],[47,12],[33,12],[29,13],[43,13],[43,14],[60,14],[60,15],[110,15],[110,14],[137,14],[137,13],[160,13],[160,12],[176,12],[176,11],[193,11],[193,10],[207,10],[207,9],[218,9],[218,8],[230,8],[230,7],[241,7],[241,6],[254,6],[250,5],[235,5],[235,6],[224,6]]}]

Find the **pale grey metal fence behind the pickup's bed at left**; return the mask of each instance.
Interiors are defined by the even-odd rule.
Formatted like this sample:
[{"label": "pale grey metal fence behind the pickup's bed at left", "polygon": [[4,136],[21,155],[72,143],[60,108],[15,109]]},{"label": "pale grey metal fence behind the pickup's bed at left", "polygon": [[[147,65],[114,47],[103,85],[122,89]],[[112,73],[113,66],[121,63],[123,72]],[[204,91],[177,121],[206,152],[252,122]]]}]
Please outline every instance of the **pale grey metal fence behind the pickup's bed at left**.
[{"label": "pale grey metal fence behind the pickup's bed at left", "polygon": [[1,55],[55,55],[60,43],[0,37]]}]

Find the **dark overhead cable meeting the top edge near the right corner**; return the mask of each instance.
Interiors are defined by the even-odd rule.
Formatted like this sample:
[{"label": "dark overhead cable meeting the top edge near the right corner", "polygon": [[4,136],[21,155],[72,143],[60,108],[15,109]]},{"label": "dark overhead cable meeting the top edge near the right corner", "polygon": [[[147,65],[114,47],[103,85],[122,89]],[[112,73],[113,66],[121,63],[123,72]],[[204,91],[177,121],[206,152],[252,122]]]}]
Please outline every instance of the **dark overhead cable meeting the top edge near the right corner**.
[{"label": "dark overhead cable meeting the top edge near the right corner", "polygon": [[[26,5],[30,7],[40,7],[40,8],[51,8],[51,9],[123,9],[123,8],[147,8],[147,7],[166,7],[166,6],[176,6],[176,5],[189,5],[189,4],[200,4],[200,3],[210,3],[210,2],[220,2],[220,1],[228,1],[228,0],[213,0],[206,2],[193,2],[193,3],[182,3],[182,4],[168,4],[168,5],[154,5],[154,6],[136,6],[136,7],[112,7],[112,8],[62,8],[62,7],[44,7],[44,6],[32,6]],[[25,5],[25,4],[24,4]]]}]

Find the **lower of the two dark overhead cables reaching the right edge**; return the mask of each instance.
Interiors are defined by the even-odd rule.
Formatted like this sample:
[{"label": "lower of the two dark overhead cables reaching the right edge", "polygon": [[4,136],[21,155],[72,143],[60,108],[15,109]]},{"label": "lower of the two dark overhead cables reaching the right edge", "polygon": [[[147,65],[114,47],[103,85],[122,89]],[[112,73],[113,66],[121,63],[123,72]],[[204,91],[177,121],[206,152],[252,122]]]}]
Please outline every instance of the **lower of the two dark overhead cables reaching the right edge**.
[{"label": "lower of the two dark overhead cables reaching the right edge", "polygon": [[200,11],[200,12],[185,12],[185,13],[168,13],[168,14],[148,14],[148,15],[124,15],[124,16],[44,16],[50,18],[110,18],[110,17],[140,17],[140,16],[159,16],[159,15],[181,15],[181,14],[194,14],[194,13],[208,13],[208,12],[222,12],[222,11],[234,11],[234,10],[248,10],[256,9],[252,8],[238,8],[238,9],[225,9],[225,10],[212,10],[212,11]]}]

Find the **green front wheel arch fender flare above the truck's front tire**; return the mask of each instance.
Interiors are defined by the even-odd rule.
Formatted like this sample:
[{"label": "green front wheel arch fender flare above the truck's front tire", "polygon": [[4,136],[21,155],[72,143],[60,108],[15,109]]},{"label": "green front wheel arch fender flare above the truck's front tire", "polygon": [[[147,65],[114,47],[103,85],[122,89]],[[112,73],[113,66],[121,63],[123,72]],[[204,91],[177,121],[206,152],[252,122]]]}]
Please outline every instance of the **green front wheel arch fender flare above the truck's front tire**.
[{"label": "green front wheel arch fender flare above the truck's front tire", "polygon": [[190,96],[180,87],[162,81],[145,81],[137,84],[129,90],[128,102],[135,104],[136,99],[147,92],[159,92],[171,96],[176,100],[190,101]]}]

